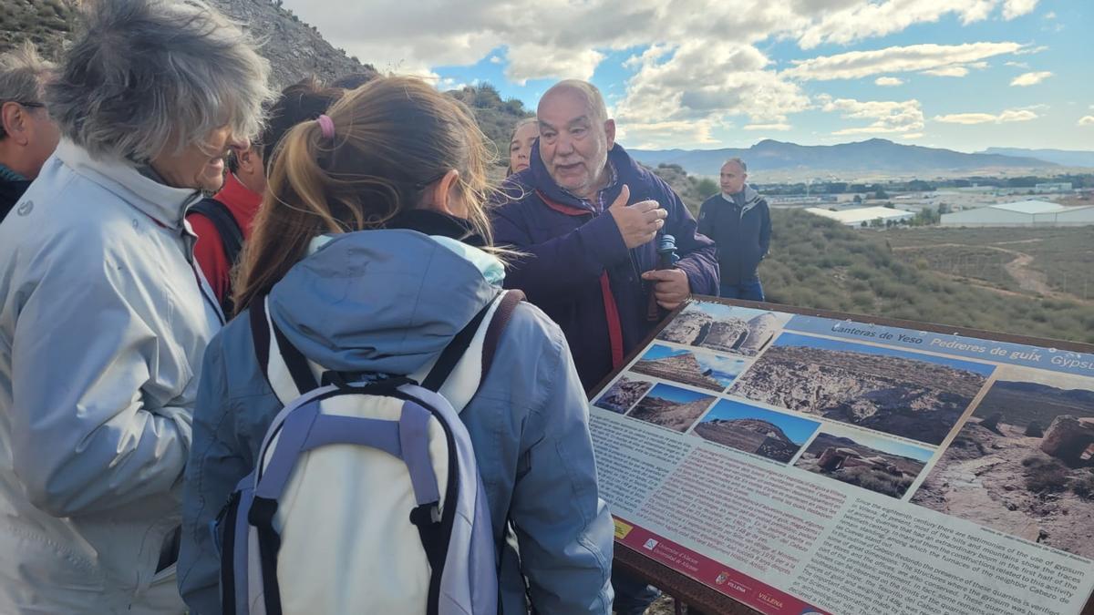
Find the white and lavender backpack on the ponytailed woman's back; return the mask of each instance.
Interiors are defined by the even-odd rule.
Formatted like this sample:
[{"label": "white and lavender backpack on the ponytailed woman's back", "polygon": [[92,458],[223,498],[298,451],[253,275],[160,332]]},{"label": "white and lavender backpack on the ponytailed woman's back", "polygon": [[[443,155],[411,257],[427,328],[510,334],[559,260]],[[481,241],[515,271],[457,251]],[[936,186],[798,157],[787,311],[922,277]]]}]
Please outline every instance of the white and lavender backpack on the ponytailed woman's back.
[{"label": "white and lavender backpack on the ponytailed woman's back", "polygon": [[522,299],[500,293],[422,373],[372,381],[324,372],[257,302],[256,353],[284,408],[214,530],[225,615],[498,612],[489,509],[458,413]]}]

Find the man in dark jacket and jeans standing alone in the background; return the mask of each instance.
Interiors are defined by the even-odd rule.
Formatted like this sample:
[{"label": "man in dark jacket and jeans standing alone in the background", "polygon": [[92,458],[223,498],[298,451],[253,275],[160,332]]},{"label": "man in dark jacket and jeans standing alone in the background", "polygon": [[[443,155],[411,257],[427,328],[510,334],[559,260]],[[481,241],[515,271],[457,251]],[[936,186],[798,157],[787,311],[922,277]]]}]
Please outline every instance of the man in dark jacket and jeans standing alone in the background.
[{"label": "man in dark jacket and jeans standing alone in the background", "polygon": [[702,202],[698,231],[718,244],[721,297],[764,301],[759,262],[771,243],[767,201],[745,183],[747,166],[740,158],[722,165],[722,194]]}]

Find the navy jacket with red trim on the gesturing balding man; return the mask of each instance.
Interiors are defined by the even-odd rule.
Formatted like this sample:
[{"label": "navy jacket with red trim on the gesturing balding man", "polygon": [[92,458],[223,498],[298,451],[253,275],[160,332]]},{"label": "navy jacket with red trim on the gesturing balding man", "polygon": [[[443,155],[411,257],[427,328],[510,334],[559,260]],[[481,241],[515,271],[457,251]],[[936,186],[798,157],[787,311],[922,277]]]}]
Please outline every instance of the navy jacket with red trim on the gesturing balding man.
[{"label": "navy jacket with red trim on the gesturing balding man", "polygon": [[618,144],[608,160],[618,181],[603,195],[601,213],[555,184],[533,147],[531,166],[507,181],[507,198],[492,214],[494,242],[526,255],[507,274],[505,287],[523,290],[562,327],[586,391],[622,364],[656,325],[647,317],[650,288],[641,279],[656,268],[656,240],[627,250],[606,209],[624,184],[630,204],[652,199],[667,210],[662,232],[676,237],[676,266],[687,274],[691,292],[718,293],[714,243],[696,233],[676,193]]}]

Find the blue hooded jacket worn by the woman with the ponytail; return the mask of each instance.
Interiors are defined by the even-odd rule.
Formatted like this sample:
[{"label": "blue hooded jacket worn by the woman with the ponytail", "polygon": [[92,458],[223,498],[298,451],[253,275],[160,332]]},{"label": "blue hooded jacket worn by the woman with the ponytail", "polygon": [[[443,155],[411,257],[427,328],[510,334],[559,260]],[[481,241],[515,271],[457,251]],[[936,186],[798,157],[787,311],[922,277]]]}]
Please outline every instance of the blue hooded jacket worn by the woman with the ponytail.
[{"label": "blue hooded jacket worn by the woman with the ponytail", "polygon": [[[493,257],[453,243],[410,230],[339,235],[274,287],[271,317],[326,369],[412,373],[500,289]],[[210,343],[198,392],[178,568],[195,613],[220,613],[209,523],[254,467],[279,409],[243,314]],[[561,332],[539,310],[517,306],[461,418],[475,445],[494,542],[504,552],[502,612],[526,612],[505,542],[512,521],[538,613],[610,613],[613,525],[597,496],[587,405]]]}]

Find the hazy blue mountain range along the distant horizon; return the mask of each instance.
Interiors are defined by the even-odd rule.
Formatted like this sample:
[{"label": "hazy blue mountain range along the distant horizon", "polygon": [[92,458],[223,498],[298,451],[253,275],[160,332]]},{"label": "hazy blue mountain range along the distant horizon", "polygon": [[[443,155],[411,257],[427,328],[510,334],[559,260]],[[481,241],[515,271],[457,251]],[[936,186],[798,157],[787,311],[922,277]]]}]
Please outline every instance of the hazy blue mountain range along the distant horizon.
[{"label": "hazy blue mountain range along the distant horizon", "polygon": [[[1051,169],[1059,164],[1032,155],[964,153],[870,139],[838,146],[799,146],[766,139],[747,149],[628,150],[643,164],[678,164],[688,173],[718,175],[726,159],[740,156],[748,171],[924,173],[999,169]],[[1033,152],[1034,150],[1029,150]],[[1043,151],[1043,150],[1037,150]],[[1081,153],[1081,152],[1073,152]],[[1094,156],[1094,152],[1091,153]],[[1094,164],[1094,163],[1092,163]]]}]

